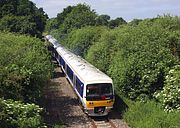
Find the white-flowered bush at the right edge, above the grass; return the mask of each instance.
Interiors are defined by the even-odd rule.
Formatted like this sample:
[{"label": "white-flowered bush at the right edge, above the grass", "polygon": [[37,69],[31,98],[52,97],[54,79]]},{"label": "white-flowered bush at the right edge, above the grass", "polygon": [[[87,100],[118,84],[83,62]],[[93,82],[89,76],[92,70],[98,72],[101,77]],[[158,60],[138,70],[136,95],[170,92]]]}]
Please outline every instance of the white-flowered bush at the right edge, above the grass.
[{"label": "white-flowered bush at the right edge, above the grass", "polygon": [[165,111],[180,110],[180,65],[172,68],[166,76],[163,90],[155,95]]}]

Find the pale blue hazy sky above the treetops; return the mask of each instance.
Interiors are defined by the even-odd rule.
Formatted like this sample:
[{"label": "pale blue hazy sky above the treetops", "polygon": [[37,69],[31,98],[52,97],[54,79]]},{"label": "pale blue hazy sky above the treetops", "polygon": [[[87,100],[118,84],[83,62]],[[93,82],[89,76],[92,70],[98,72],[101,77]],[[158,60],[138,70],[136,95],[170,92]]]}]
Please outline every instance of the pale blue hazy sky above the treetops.
[{"label": "pale blue hazy sky above the treetops", "polygon": [[170,14],[180,16],[180,0],[31,0],[42,7],[50,18],[56,17],[63,8],[86,3],[98,15],[107,14],[111,19],[122,17],[126,21]]}]

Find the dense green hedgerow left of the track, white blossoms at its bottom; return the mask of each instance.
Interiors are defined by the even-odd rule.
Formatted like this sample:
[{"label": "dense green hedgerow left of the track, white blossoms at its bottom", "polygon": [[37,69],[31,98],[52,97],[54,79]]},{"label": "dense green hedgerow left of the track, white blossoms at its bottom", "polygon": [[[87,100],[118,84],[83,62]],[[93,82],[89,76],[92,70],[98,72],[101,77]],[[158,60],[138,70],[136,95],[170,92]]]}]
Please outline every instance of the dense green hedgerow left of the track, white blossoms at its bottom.
[{"label": "dense green hedgerow left of the track, white blossoms at its bottom", "polygon": [[0,126],[46,127],[35,103],[51,75],[47,48],[29,36],[0,32],[0,37]]}]

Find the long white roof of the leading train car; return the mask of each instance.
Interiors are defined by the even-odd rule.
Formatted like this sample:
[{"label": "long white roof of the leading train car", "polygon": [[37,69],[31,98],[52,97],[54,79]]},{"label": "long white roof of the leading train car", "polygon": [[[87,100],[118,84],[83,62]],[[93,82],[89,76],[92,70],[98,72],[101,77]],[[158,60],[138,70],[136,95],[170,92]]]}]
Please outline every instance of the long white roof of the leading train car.
[{"label": "long white roof of the leading train car", "polygon": [[112,83],[112,79],[109,76],[63,46],[59,46],[57,52],[84,83]]}]

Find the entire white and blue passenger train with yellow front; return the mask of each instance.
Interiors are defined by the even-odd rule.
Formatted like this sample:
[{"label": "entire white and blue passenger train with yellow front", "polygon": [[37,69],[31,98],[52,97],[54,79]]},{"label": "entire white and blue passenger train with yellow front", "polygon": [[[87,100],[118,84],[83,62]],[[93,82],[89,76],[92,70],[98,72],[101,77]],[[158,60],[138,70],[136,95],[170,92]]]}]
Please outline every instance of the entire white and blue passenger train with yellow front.
[{"label": "entire white and blue passenger train with yellow front", "polygon": [[66,74],[89,116],[108,115],[114,104],[112,79],[57,43],[52,36],[46,40],[52,45],[53,56]]}]

